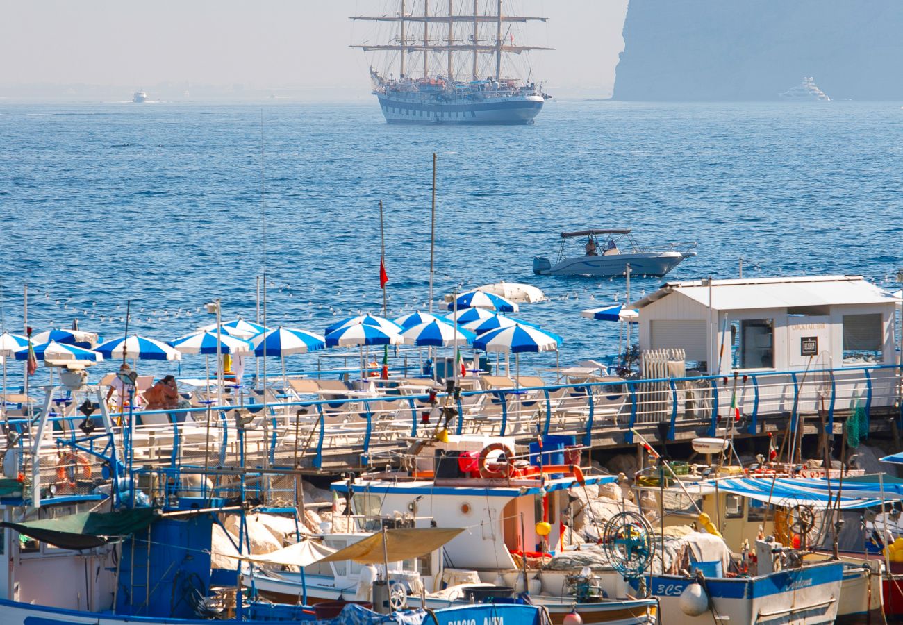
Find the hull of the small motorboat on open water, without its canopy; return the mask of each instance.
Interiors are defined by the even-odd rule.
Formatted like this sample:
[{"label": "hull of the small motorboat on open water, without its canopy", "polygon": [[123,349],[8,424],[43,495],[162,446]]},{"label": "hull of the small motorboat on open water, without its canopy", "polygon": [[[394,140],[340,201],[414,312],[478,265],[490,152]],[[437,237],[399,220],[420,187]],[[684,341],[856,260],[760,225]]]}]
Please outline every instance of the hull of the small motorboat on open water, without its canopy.
[{"label": "hull of the small motorboat on open water, without its canopy", "polygon": [[536,275],[593,275],[614,277],[630,275],[661,277],[680,265],[685,256],[680,252],[647,252],[640,254],[613,254],[610,256],[572,257],[551,264],[543,257],[533,260]]}]

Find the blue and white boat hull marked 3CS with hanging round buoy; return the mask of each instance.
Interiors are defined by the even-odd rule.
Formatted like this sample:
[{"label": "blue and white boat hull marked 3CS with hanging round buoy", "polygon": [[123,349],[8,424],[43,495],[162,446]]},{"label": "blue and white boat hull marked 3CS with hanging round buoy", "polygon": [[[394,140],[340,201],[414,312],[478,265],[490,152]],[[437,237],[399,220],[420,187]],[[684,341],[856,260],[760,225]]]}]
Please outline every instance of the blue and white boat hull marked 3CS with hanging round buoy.
[{"label": "blue and white boat hull marked 3CS with hanging round buoy", "polygon": [[698,616],[684,613],[680,601],[694,579],[653,575],[650,585],[666,615],[665,625],[712,625],[712,619],[731,625],[828,625],[837,618],[842,575],[843,564],[830,562],[752,578],[706,579],[712,610]]}]

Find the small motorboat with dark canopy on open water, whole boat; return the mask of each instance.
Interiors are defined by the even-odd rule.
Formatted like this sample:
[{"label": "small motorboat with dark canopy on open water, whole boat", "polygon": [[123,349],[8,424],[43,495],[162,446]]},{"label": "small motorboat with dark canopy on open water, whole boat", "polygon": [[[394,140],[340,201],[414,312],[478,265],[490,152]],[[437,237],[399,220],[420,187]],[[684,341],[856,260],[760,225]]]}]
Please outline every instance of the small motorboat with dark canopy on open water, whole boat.
[{"label": "small motorboat with dark canopy on open water, whole boat", "polygon": [[[589,229],[561,233],[558,257],[533,259],[536,275],[662,276],[696,253],[695,243],[673,243],[667,249],[640,247],[629,229]],[[575,255],[578,246],[582,254]],[[678,247],[684,247],[683,251]]]}]

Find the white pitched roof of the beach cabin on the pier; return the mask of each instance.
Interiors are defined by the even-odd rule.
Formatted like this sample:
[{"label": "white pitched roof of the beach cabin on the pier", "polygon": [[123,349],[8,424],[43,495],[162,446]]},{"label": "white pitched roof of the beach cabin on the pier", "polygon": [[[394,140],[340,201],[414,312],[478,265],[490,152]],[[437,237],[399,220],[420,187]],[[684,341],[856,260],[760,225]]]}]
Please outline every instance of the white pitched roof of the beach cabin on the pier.
[{"label": "white pitched roof of the beach cabin on the pier", "polygon": [[[694,280],[666,283],[630,307],[643,308],[673,293],[683,294],[703,306],[709,305],[707,281]],[[861,275],[712,280],[711,294],[712,308],[719,311],[900,301]]]}]

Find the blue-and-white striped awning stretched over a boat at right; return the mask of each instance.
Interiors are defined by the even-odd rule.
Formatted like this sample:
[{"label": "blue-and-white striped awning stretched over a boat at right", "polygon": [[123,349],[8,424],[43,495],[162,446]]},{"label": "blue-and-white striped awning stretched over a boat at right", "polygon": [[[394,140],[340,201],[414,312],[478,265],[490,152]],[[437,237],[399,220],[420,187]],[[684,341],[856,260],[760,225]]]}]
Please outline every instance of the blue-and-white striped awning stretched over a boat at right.
[{"label": "blue-and-white striped awning stretched over a boat at right", "polygon": [[[747,499],[756,499],[775,506],[791,507],[796,505],[812,506],[817,509],[837,506],[840,480],[817,480],[802,478],[737,478],[717,480],[718,490],[740,495]],[[704,482],[714,485],[715,481]],[[772,486],[773,484],[773,486]],[[899,486],[899,485],[896,485]],[[899,488],[885,488],[884,499],[897,501],[903,499]],[[880,484],[878,482],[855,482],[844,480],[840,497],[840,508],[851,510],[870,508],[881,503]]]}]

